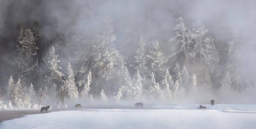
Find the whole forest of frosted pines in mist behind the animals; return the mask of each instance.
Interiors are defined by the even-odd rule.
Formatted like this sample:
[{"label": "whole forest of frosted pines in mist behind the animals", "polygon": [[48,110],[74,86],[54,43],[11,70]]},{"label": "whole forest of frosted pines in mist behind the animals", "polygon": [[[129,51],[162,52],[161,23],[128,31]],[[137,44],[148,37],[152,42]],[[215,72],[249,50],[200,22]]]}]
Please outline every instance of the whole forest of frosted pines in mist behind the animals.
[{"label": "whole forest of frosted pines in mist behind the animals", "polygon": [[88,19],[97,22],[85,30],[72,23],[51,38],[31,19],[1,35],[0,106],[30,108],[47,99],[62,107],[77,99],[172,103],[198,89],[225,94],[246,88],[239,69],[243,40],[235,33],[220,46],[202,21],[187,26],[176,17],[169,28],[174,36],[162,39],[140,34],[131,14],[119,34],[111,17]]}]

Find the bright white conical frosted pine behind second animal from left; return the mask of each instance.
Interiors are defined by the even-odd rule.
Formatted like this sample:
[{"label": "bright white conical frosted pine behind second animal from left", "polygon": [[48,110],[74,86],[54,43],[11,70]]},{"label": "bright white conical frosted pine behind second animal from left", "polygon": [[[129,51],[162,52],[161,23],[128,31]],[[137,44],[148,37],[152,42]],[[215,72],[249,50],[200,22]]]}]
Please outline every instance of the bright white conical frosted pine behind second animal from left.
[{"label": "bright white conical frosted pine behind second animal from left", "polygon": [[68,97],[71,100],[75,100],[78,98],[78,91],[75,84],[74,72],[71,68],[70,62],[68,63],[67,71],[68,71],[68,77],[67,77],[67,80],[65,81],[65,86],[67,87],[67,90],[68,90]]}]

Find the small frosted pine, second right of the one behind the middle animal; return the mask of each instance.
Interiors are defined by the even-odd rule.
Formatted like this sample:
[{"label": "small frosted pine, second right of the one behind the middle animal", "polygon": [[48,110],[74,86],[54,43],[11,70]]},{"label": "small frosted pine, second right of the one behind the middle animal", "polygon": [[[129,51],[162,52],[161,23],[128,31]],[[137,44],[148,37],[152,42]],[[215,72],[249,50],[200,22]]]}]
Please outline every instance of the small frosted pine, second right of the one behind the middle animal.
[{"label": "small frosted pine, second right of the one behind the middle animal", "polygon": [[[163,87],[163,95],[164,95],[164,98],[169,100],[172,98],[172,91],[169,89],[170,86],[169,86],[169,82],[172,81],[172,80],[168,80],[172,78],[169,74],[169,71],[168,69],[165,71],[165,76],[164,76],[164,79],[162,81],[162,87]],[[172,82],[173,83],[173,82]]]}]

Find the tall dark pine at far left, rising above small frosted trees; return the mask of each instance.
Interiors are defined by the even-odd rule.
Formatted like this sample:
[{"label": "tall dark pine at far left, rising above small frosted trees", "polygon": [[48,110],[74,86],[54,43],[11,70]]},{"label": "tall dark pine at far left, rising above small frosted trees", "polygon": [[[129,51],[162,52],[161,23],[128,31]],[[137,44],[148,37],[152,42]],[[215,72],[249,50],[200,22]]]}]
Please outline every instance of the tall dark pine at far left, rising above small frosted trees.
[{"label": "tall dark pine at far left, rising above small frosted trees", "polygon": [[30,28],[20,28],[18,42],[16,44],[16,74],[25,82],[31,82],[35,77],[35,70],[38,67],[37,45],[35,37]]}]

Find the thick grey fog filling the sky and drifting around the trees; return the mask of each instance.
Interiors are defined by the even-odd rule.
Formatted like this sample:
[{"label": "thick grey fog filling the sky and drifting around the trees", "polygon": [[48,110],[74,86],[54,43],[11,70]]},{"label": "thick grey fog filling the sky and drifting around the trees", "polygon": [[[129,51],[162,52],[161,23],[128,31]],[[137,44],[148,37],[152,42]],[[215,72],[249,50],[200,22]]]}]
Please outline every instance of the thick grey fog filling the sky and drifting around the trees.
[{"label": "thick grey fog filling the sky and drifting around the trees", "polygon": [[[169,83],[171,97],[165,97],[162,99],[163,102],[208,103],[211,99],[216,99],[217,103],[255,103],[255,7],[255,0],[0,0],[0,94],[2,99],[9,102],[8,81],[11,75],[14,78],[14,84],[18,78],[22,80],[23,87],[29,87],[30,83],[33,83],[35,94],[39,94],[38,90],[41,87],[48,87],[51,94],[53,82],[57,85],[56,89],[59,89],[61,84],[57,84],[56,81],[47,82],[45,78],[47,76],[45,71],[48,70],[46,56],[54,46],[55,53],[59,55],[57,59],[60,60],[57,64],[62,67],[58,70],[65,78],[69,76],[67,66],[69,62],[71,63],[79,96],[77,101],[81,103],[84,102],[81,97],[83,85],[88,84],[87,76],[90,70],[92,81],[89,82],[88,98],[92,95],[95,100],[101,100],[103,89],[109,101],[114,102],[118,91],[123,91],[120,103],[123,102],[122,100],[150,103],[157,102],[161,98],[152,96],[150,86],[154,83],[151,84],[150,74],[154,73],[155,82],[159,84],[160,91],[165,96],[167,93],[162,82],[165,79],[166,69],[172,77],[173,84],[170,86]],[[193,31],[193,25],[196,23],[202,22],[205,26],[204,29],[207,32],[203,39],[211,40],[212,38],[209,51],[217,53],[216,56],[206,56],[206,60],[211,60],[210,63],[201,63],[201,55],[200,58],[197,54],[193,56],[196,36],[192,38],[191,45],[185,46],[185,49],[188,49],[188,63],[184,62],[184,55],[182,55],[184,52],[177,54],[180,46],[176,44],[175,28],[178,24],[176,19],[179,17],[184,20],[188,34],[190,31],[196,32]],[[22,78],[23,75],[17,71],[15,57],[17,57],[19,45],[16,45],[19,43],[17,39],[21,26],[33,30],[35,21],[39,24],[38,34],[40,34],[39,40],[36,40],[39,48],[37,50],[38,65],[33,71],[37,75],[27,79]],[[140,75],[144,78],[140,80],[143,93],[141,97],[136,98],[138,87],[135,85],[138,84],[134,75],[137,73],[138,63],[135,56],[140,48],[140,37],[143,37],[146,44],[146,55],[150,55],[153,42],[158,41],[159,51],[167,62],[163,63],[161,68],[156,67],[163,69],[159,72],[151,68],[154,59],[147,56],[145,64],[148,68],[147,72],[140,71]],[[236,49],[235,58],[229,54],[231,48],[229,42],[232,40],[236,42],[232,47]],[[106,53],[101,53],[105,51],[104,48],[99,49],[102,43],[106,47]],[[97,61],[99,56],[107,57],[99,58]],[[214,59],[217,63],[212,61]],[[232,69],[229,68],[230,64],[234,63],[232,59],[236,61],[236,69],[230,70]],[[109,63],[110,60],[113,62]],[[98,64],[99,61],[104,63]],[[181,74],[184,70],[183,66],[187,67],[189,74],[189,82],[185,85],[183,78],[183,85],[180,83],[179,89],[176,86],[179,79],[173,70],[176,63],[180,65]],[[128,74],[125,73],[125,69],[128,70]],[[230,77],[227,77],[228,72]],[[206,75],[209,76],[211,83],[205,82]],[[127,76],[129,76],[128,79]],[[230,81],[230,87],[226,90],[226,83],[228,85]],[[79,86],[79,83],[82,86]],[[129,90],[128,85],[132,90]],[[188,88],[188,85],[192,87],[196,85],[196,90]],[[59,91],[56,90],[56,92]],[[129,94],[133,94],[133,97],[129,97]],[[38,103],[38,95],[35,96],[37,96],[35,103]],[[55,105],[59,98],[57,97],[56,100],[55,95],[53,96],[49,98]],[[71,97],[65,97],[65,103],[76,102],[69,98]]]}]

